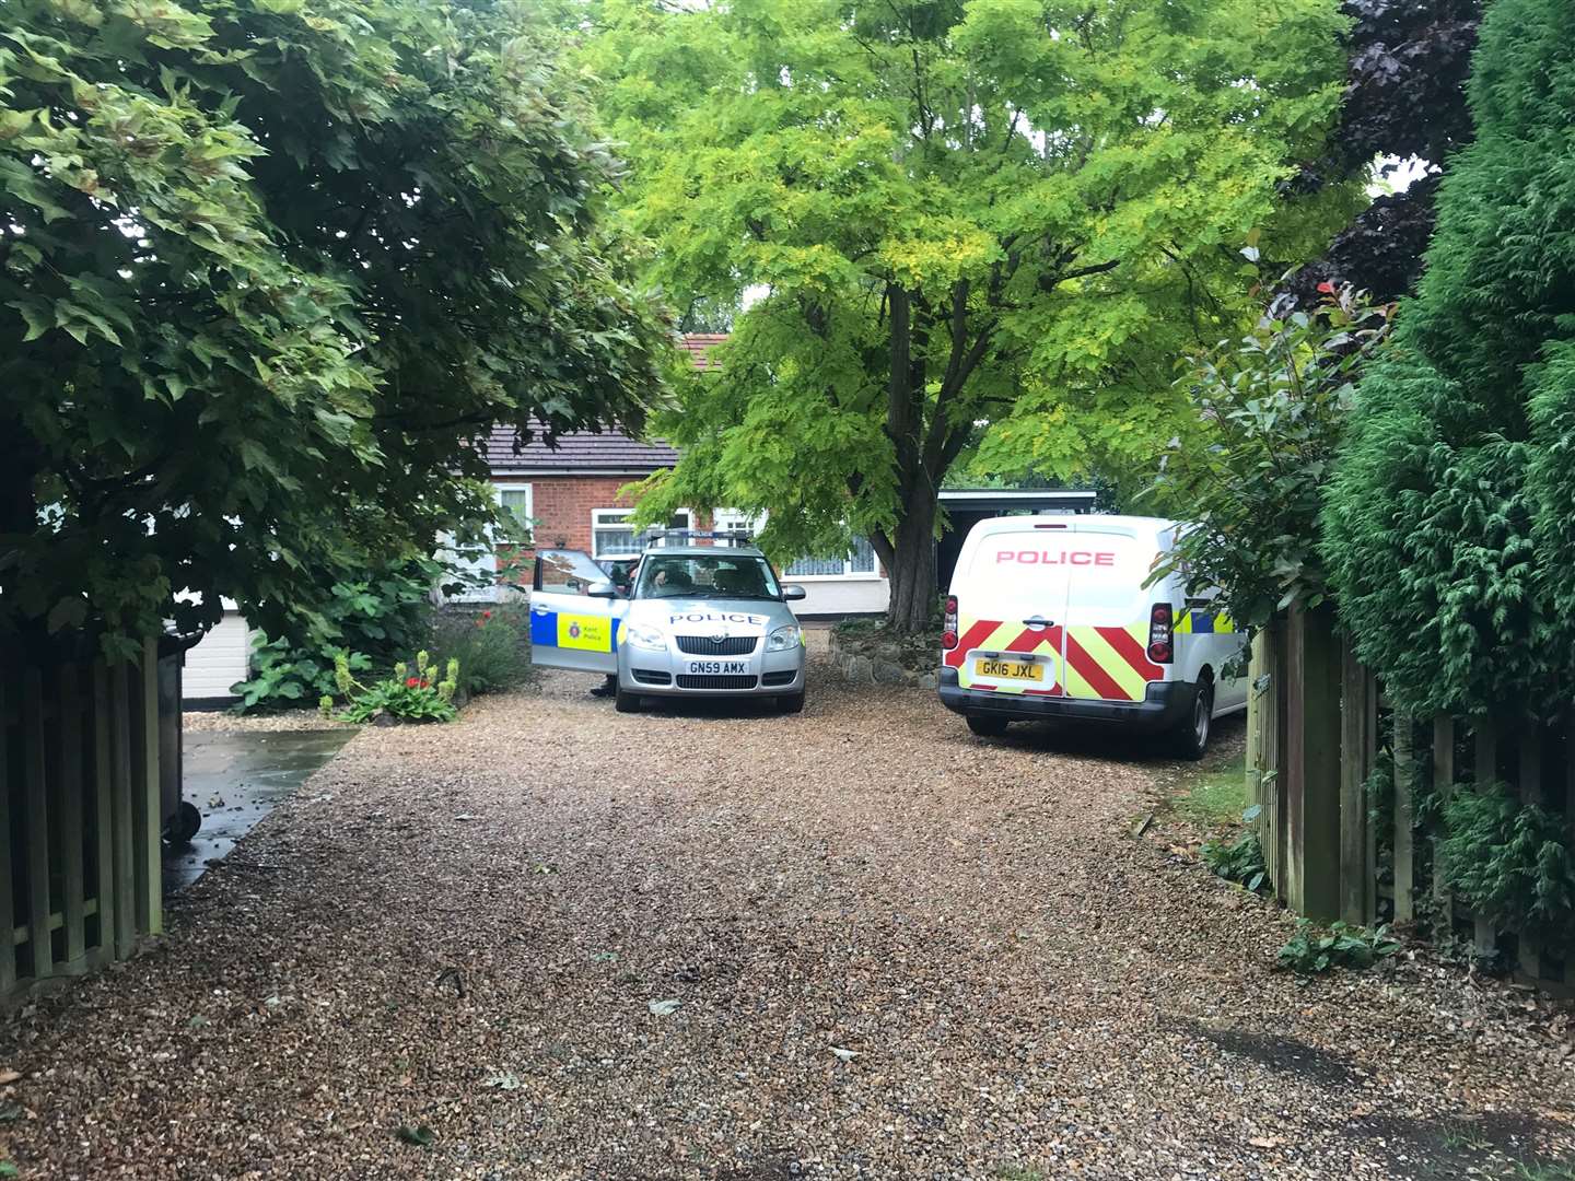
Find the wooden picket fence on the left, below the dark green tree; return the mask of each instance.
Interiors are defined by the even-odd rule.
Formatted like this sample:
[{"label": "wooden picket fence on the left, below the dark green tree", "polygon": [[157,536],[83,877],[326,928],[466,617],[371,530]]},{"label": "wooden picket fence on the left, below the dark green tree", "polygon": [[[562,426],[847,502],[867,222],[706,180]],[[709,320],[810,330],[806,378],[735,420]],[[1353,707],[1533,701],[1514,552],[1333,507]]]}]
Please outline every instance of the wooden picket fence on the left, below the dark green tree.
[{"label": "wooden picket fence on the left, below the dark green tree", "polygon": [[161,727],[156,641],[140,665],[0,661],[0,1001],[161,931],[178,716]]}]

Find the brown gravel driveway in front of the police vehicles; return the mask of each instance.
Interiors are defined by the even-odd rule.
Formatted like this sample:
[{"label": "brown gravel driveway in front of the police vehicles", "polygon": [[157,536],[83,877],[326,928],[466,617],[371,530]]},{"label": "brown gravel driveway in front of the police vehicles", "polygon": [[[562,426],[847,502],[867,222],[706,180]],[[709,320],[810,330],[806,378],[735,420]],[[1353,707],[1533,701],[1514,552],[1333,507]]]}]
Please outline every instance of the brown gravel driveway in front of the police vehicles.
[{"label": "brown gravel driveway in front of the police vehicles", "polygon": [[1290,921],[1131,835],[1169,764],[983,743],[819,665],[800,716],[587,683],[365,731],[161,948],[13,1020],[22,1176],[1446,1178],[1572,1148],[1562,1011],[1425,962],[1269,973]]}]

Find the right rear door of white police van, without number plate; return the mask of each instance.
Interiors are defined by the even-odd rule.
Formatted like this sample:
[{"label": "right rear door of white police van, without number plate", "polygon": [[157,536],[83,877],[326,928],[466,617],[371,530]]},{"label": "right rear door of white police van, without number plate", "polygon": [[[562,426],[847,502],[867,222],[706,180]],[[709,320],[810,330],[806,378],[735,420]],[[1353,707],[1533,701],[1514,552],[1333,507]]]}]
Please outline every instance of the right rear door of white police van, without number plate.
[{"label": "right rear door of white police van, without number plate", "polygon": [[[1143,581],[1159,553],[1151,529],[1076,521],[1066,539],[1065,691],[1068,698],[1142,701],[1166,668],[1148,658],[1153,602]],[[1080,556],[1079,556],[1080,554]]]}]

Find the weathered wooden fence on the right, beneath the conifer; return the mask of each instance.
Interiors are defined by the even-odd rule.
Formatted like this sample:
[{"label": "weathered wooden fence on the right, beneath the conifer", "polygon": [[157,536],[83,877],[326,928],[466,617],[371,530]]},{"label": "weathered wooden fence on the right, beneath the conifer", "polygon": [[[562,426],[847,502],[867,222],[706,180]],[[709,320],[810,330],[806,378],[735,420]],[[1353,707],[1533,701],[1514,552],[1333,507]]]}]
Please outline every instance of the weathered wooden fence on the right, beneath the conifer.
[{"label": "weathered wooden fence on the right, beneath the conifer", "polygon": [[[1425,921],[1526,983],[1575,990],[1575,964],[1496,931],[1440,872],[1438,817],[1414,813],[1418,784],[1440,803],[1498,781],[1562,816],[1575,847],[1575,713],[1548,727],[1488,718],[1408,718],[1334,630],[1331,613],[1292,611],[1252,649],[1247,790],[1276,893],[1320,921]],[[1441,809],[1440,809],[1441,811]]]}]

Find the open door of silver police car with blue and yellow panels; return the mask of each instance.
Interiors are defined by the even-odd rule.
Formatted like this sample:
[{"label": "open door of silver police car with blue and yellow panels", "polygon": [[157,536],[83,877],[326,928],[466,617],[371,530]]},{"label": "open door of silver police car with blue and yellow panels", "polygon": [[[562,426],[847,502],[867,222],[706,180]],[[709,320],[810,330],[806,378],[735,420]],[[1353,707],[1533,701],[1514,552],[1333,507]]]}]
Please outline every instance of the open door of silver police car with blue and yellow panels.
[{"label": "open door of silver police car with blue and yellow panels", "polygon": [[581,550],[537,550],[531,578],[531,663],[580,672],[617,672],[628,600],[592,598],[606,572]]}]

